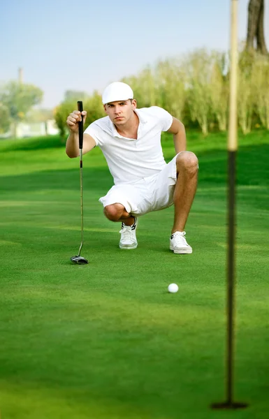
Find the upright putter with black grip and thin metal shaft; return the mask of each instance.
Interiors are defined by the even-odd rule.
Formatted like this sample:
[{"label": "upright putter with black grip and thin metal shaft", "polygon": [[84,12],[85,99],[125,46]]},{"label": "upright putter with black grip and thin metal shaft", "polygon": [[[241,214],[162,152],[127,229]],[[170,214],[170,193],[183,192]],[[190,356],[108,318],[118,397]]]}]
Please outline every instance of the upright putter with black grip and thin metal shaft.
[{"label": "upright putter with black grip and thin metal shaft", "polygon": [[[82,112],[83,110],[83,104],[82,101],[78,101],[78,110]],[[81,243],[80,243],[80,249],[78,250],[78,255],[73,256],[71,258],[71,262],[76,263],[78,265],[85,265],[86,263],[89,263],[89,260],[83,258],[80,256],[80,252],[83,246],[83,166],[82,166],[82,147],[83,147],[83,117],[81,118],[81,121],[78,122],[78,141],[79,141],[79,147],[80,147],[80,208],[81,208]]]}]

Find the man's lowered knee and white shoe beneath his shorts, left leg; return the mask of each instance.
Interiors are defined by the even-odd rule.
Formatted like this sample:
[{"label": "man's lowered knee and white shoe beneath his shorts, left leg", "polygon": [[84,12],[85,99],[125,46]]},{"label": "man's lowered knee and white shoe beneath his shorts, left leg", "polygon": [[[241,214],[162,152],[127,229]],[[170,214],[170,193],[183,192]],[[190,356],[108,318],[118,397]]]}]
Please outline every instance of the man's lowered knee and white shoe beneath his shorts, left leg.
[{"label": "man's lowered knee and white shoe beneath his shorts, left leg", "polygon": [[126,211],[124,205],[119,203],[107,205],[103,212],[110,221],[122,221],[122,229],[119,231],[121,233],[119,248],[128,250],[136,249],[138,247],[136,240],[136,217],[131,216]]}]

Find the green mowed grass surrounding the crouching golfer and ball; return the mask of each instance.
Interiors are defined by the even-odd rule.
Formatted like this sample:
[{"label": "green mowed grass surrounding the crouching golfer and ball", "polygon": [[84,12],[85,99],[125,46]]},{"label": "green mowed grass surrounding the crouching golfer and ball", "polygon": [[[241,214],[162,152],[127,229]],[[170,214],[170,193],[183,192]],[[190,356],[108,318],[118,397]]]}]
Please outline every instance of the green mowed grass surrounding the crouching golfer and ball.
[{"label": "green mowed grass surrounding the crouching golfer and ball", "polygon": [[[168,249],[173,208],[140,218],[138,249],[118,248],[103,216],[112,178],[84,158],[89,265],[80,245],[79,161],[59,138],[0,142],[0,406],[3,419],[268,418],[269,134],[238,152],[235,399],[224,399],[226,135],[189,133],[199,184],[187,240]],[[163,139],[173,156],[172,138]],[[168,294],[171,282],[177,294]]]}]

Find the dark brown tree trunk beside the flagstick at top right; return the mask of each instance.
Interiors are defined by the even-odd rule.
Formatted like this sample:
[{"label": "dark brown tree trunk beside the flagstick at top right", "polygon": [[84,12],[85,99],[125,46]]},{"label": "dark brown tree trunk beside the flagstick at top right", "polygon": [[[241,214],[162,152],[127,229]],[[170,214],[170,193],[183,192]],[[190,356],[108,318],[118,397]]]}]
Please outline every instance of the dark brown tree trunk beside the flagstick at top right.
[{"label": "dark brown tree trunk beside the flagstick at top right", "polygon": [[247,51],[255,49],[261,54],[268,54],[264,37],[264,0],[249,0],[248,24],[247,24]]}]

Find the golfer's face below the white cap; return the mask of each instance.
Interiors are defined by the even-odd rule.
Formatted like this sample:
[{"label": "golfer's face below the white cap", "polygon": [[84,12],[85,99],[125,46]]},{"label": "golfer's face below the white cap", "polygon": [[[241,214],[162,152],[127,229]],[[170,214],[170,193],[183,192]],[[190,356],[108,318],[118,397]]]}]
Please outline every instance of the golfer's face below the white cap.
[{"label": "golfer's face below the white cap", "polygon": [[133,110],[136,109],[136,100],[110,102],[103,105],[103,108],[113,124],[122,126],[133,116]]}]

